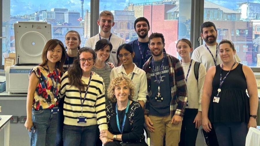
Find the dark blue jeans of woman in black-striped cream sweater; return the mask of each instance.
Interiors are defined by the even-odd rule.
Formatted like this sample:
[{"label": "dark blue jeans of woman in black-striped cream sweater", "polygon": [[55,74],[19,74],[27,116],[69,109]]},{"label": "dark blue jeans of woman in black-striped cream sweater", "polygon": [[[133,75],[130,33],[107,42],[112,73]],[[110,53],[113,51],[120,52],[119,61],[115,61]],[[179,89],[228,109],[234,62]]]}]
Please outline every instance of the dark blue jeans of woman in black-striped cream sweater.
[{"label": "dark blue jeans of woman in black-striped cream sweater", "polygon": [[71,126],[64,124],[63,145],[64,146],[95,146],[98,125]]}]

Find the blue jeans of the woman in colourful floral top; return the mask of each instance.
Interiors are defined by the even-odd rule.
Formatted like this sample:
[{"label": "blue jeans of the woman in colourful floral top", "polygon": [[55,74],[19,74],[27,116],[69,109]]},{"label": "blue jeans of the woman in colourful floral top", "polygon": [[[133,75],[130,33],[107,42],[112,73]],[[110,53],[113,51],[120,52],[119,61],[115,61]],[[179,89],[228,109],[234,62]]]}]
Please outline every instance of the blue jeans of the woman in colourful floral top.
[{"label": "blue jeans of the woman in colourful floral top", "polygon": [[51,109],[32,111],[35,133],[29,132],[31,146],[54,145],[57,129],[57,113],[52,114]]}]

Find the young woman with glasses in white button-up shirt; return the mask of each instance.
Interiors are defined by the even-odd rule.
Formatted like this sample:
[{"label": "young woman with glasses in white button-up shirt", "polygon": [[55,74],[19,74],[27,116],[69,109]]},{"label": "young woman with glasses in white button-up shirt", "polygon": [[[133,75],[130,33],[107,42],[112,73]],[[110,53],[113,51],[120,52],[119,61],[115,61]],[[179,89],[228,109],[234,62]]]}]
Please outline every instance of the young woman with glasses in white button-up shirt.
[{"label": "young woman with glasses in white button-up shirt", "polygon": [[140,103],[144,107],[146,102],[147,92],[147,79],[146,73],[138,68],[133,63],[134,50],[130,44],[122,44],[117,50],[117,61],[122,62],[122,65],[112,69],[110,73],[110,80],[116,77],[128,77],[135,84],[135,95],[133,101]]}]

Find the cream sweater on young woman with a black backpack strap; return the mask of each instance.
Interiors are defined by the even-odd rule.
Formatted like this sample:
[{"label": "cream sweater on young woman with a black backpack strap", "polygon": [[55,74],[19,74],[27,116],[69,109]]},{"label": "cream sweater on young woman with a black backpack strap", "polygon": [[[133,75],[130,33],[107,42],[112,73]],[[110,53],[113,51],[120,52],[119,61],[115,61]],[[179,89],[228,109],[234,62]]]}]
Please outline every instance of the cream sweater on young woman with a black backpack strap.
[{"label": "cream sweater on young woman with a black backpack strap", "polygon": [[[189,71],[189,75],[187,78],[187,91],[188,91],[188,102],[186,108],[189,109],[198,109],[198,111],[201,111],[201,98],[203,94],[203,85],[204,85],[204,80],[206,76],[206,70],[203,64],[200,64],[199,68],[199,77],[198,77],[198,82],[197,79],[195,78],[194,75],[194,64],[195,61],[192,60],[191,63],[191,69]],[[187,76],[188,70],[189,70],[189,65],[190,62],[188,63],[183,63],[182,62],[182,67],[184,70],[185,78]]]}]

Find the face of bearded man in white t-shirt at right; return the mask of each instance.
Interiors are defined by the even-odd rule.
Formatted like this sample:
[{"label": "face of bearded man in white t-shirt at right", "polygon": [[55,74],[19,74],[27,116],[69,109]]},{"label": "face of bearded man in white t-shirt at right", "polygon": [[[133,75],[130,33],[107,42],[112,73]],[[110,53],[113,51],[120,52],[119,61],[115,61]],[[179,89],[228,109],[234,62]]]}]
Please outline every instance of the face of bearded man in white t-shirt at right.
[{"label": "face of bearded man in white t-shirt at right", "polygon": [[203,33],[201,33],[200,35],[206,43],[211,44],[211,43],[215,43],[217,41],[218,33],[214,29],[214,26],[205,27],[202,29],[202,31],[203,31]]}]

